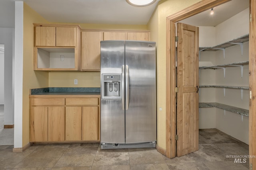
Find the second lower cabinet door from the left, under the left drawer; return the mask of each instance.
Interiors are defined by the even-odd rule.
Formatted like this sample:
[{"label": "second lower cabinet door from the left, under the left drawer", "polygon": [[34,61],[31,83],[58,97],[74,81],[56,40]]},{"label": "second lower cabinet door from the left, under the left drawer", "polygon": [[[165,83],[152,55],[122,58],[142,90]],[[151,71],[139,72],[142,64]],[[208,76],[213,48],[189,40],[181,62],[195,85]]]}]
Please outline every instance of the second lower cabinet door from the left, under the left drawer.
[{"label": "second lower cabinet door from the left, under the left drawer", "polygon": [[65,107],[48,107],[48,141],[65,140]]}]

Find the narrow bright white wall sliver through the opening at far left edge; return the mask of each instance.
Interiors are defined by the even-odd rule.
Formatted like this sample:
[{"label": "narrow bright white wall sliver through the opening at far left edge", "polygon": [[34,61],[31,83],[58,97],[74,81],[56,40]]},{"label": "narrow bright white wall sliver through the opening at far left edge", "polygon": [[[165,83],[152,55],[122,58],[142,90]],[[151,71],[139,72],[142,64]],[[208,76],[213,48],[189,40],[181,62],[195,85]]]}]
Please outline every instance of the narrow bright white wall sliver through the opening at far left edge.
[{"label": "narrow bright white wall sliver through the opening at far left edge", "polygon": [[0,105],[4,104],[4,53],[0,52]]}]

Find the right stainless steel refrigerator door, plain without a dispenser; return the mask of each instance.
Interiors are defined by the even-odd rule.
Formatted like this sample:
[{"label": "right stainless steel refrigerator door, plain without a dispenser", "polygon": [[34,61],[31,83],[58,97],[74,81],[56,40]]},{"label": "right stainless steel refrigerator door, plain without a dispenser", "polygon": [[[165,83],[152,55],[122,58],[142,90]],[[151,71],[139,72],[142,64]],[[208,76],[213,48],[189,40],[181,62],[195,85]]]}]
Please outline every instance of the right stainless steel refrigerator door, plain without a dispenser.
[{"label": "right stainless steel refrigerator door, plain without a dispenser", "polygon": [[156,141],[156,46],[126,41],[126,143]]}]

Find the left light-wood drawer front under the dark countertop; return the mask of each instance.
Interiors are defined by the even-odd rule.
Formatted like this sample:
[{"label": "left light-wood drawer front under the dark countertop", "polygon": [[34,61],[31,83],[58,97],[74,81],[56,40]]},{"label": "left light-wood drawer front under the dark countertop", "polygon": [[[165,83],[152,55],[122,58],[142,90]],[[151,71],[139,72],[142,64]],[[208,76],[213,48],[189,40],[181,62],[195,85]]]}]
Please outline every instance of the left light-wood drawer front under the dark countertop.
[{"label": "left light-wood drawer front under the dark countertop", "polygon": [[32,106],[65,105],[65,98],[32,98]]}]

